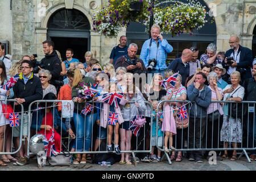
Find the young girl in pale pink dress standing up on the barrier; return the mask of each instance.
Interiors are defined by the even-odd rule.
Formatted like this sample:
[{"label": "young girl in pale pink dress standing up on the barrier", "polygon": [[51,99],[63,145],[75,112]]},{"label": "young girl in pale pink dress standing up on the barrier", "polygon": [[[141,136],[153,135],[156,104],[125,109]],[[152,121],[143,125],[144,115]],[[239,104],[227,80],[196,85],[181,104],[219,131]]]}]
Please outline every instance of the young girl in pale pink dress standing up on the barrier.
[{"label": "young girl in pale pink dress standing up on the barrier", "polygon": [[[174,72],[172,71],[168,71],[166,73],[164,73],[165,75],[165,79],[170,77],[171,75],[173,75]],[[168,83],[167,84],[167,89],[168,88],[172,88],[171,84]],[[166,94],[166,96],[168,96],[168,92]],[[168,100],[168,97],[164,96],[162,98],[162,100]],[[170,138],[170,149],[171,150],[175,150],[175,148],[172,146],[172,135],[176,134],[176,126],[175,126],[175,119],[174,119],[174,113],[173,113],[173,109],[172,107],[170,107],[170,103],[166,103],[164,104],[163,107],[163,126],[162,126],[162,131],[164,131],[165,136],[164,136],[164,151],[165,152],[170,152],[168,150],[168,140]]]}]

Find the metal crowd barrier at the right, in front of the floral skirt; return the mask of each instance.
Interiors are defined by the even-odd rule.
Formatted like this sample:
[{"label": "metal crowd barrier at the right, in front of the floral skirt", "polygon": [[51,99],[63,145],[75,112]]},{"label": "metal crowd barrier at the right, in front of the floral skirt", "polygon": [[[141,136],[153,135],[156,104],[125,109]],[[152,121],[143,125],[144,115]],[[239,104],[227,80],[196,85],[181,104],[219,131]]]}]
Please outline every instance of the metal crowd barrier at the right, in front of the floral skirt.
[{"label": "metal crowd barrier at the right, in front of the floral skirt", "polygon": [[[159,113],[159,106],[164,104],[174,104],[175,102],[177,103],[182,102],[183,104],[181,105],[184,105],[184,103],[186,104],[187,114],[189,118],[189,125],[187,128],[176,129],[177,133],[179,132],[179,137],[181,136],[181,139],[180,138],[177,139],[177,137],[175,137],[175,141],[173,141],[173,143],[175,144],[175,146],[179,144],[181,147],[176,147],[174,150],[175,152],[187,151],[187,152],[197,152],[197,154],[199,154],[199,152],[202,152],[202,151],[239,150],[242,152],[238,157],[238,159],[241,158],[243,154],[245,154],[248,162],[251,162],[249,159],[249,156],[247,155],[246,150],[256,150],[256,146],[254,146],[254,140],[255,140],[254,132],[256,127],[254,122],[256,117],[256,112],[255,112],[256,102],[253,102],[253,101],[242,101],[242,102],[212,101],[211,102],[211,103],[217,103],[217,105],[222,104],[224,107],[221,106],[221,108],[223,108],[224,114],[228,112],[235,113],[236,117],[234,117],[233,115],[232,118],[229,118],[226,115],[222,116],[220,112],[216,114],[217,118],[216,118],[216,115],[214,118],[214,113],[206,114],[206,117],[202,118],[202,109],[199,111],[200,113],[199,116],[191,117],[191,106],[192,104],[195,104],[195,102],[180,101],[180,100],[179,101],[177,100],[160,101],[157,107],[157,112]],[[228,105],[229,105],[229,109],[226,109],[225,106],[228,106]],[[232,105],[236,105],[236,107],[233,108],[234,110],[232,110]],[[218,110],[220,110],[220,107],[218,107]],[[240,111],[242,111],[243,113],[241,115],[241,118],[239,118]],[[171,115],[171,112],[173,111],[170,109],[169,112]],[[194,107],[193,112],[197,113],[197,107]],[[178,115],[176,113],[175,123],[177,121],[177,117]],[[209,118],[211,118],[212,121],[210,121]],[[156,129],[158,128],[158,122],[159,122],[159,118],[156,117]],[[233,128],[230,129],[228,126],[228,122],[229,123],[233,122],[237,127],[234,129]],[[251,129],[253,129],[252,132],[249,132],[249,130]],[[231,135],[233,137],[232,140],[230,140]],[[158,132],[156,132],[156,138],[158,138]],[[170,145],[170,139],[171,137],[169,137],[169,143],[168,143],[169,145]],[[184,143],[186,143],[186,145]],[[229,146],[228,146],[228,143],[229,143]],[[233,148],[231,147],[231,143],[233,143]],[[163,142],[163,146],[164,146],[164,142]],[[170,160],[170,157],[168,156],[168,153],[165,152],[162,148],[160,148],[157,142],[156,142],[156,147],[160,151],[164,152],[169,164],[171,164],[171,160]],[[164,158],[164,155],[163,155],[163,158]]]}]

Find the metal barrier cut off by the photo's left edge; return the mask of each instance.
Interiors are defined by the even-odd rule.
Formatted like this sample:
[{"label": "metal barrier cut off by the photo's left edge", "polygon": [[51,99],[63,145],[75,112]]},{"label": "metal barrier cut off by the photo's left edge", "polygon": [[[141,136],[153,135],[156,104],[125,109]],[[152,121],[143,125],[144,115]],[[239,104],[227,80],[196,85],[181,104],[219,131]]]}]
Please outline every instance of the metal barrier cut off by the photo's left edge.
[{"label": "metal barrier cut off by the photo's left edge", "polygon": [[[7,111],[6,111],[7,110],[7,103],[15,102],[16,100],[14,100],[14,99],[8,99],[8,100],[0,99],[0,101],[1,101],[1,104],[2,104],[2,102],[4,102],[5,105],[6,105],[5,111],[1,110],[2,111],[2,113],[0,114],[1,119],[6,119],[5,113],[7,113]],[[2,105],[4,105],[4,104],[2,104]],[[22,104],[20,104],[20,106],[21,106],[21,111],[19,112],[19,127],[20,127],[19,143],[16,143],[17,144],[16,149],[15,149],[15,151],[13,151],[12,148],[13,148],[13,144],[14,144],[13,143],[14,127],[10,127],[11,131],[10,130],[7,131],[6,130],[7,126],[3,125],[3,148],[2,148],[2,151],[0,151],[0,155],[13,155],[13,154],[16,154],[22,148],[22,141],[24,141],[24,139],[22,138],[22,129],[23,129],[23,122],[22,121],[23,121],[24,107],[23,107]],[[13,109],[15,110],[15,105],[14,105]],[[7,124],[7,125],[9,125],[9,124]],[[15,126],[15,127],[17,127],[17,126]],[[7,148],[6,144],[7,144],[8,141],[11,142],[11,143],[10,143],[10,146],[8,146],[8,148]],[[18,140],[16,140],[16,142],[18,142]],[[7,152],[7,150],[10,150],[10,152]]]}]

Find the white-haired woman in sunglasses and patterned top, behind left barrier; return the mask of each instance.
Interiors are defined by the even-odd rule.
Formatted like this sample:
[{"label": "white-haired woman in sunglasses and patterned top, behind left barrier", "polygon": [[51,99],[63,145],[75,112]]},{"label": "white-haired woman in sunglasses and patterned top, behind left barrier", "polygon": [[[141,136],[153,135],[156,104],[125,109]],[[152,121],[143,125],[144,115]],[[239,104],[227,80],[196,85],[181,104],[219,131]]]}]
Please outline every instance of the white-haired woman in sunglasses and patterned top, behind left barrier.
[{"label": "white-haired woman in sunglasses and patterned top, behind left barrier", "polygon": [[47,69],[41,69],[41,71],[38,73],[39,78],[41,80],[42,83],[42,87],[43,87],[43,97],[47,94],[47,93],[54,93],[55,96],[57,94],[57,90],[55,88],[55,86],[49,84],[49,80],[51,80],[52,75],[51,73],[47,70]]}]

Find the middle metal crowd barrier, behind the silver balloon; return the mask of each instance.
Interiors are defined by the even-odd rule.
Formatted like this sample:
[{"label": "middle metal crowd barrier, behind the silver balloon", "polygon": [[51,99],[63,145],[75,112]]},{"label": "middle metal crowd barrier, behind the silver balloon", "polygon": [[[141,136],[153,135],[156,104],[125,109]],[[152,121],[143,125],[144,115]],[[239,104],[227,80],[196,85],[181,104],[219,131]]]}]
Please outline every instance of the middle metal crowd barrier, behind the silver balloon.
[{"label": "middle metal crowd barrier, behind the silver balloon", "polygon": [[[47,106],[47,103],[55,103],[55,105],[51,105],[51,106]],[[35,108],[37,108],[37,109],[39,109],[39,110],[42,110],[42,111],[44,111],[44,112],[46,112],[46,110],[43,110],[43,109],[40,109],[40,107],[42,108],[42,107],[58,107],[59,105],[62,105],[63,106],[63,102],[65,102],[65,104],[67,104],[67,101],[63,101],[63,100],[38,100],[38,101],[34,101],[34,102],[31,102],[31,104],[29,105],[29,107],[28,107],[28,117],[29,117],[29,121],[31,122],[31,119],[32,119],[32,113],[33,112],[36,112],[36,119],[38,118],[38,111],[36,111],[36,109]],[[69,101],[68,101],[69,102]],[[71,101],[72,102],[72,101]],[[97,109],[98,110],[100,110],[100,117],[101,117],[101,110],[103,109],[102,108],[102,105],[101,105],[101,103],[104,103],[104,102],[87,102],[87,103],[89,103],[89,104],[92,104],[92,103],[94,103],[94,106],[95,106],[95,104],[96,103],[99,103],[100,104],[100,106],[96,106],[97,107]],[[133,103],[135,103],[135,102],[129,102],[128,104],[133,104]],[[150,102],[144,102],[146,105],[148,105],[149,106],[149,108],[150,108],[150,113],[151,113],[151,115],[152,115],[152,105],[150,104]],[[74,106],[75,107],[75,106]],[[74,108],[75,109],[75,108]],[[77,105],[77,108],[76,108],[77,110],[79,109],[79,105]],[[55,109],[53,109],[53,113],[55,113],[56,112],[56,110]],[[61,110],[61,112],[62,112],[62,110]],[[130,111],[131,112],[131,111]],[[79,113],[79,114],[81,114],[81,113]],[[128,114],[128,113],[125,113],[125,114]],[[139,114],[139,113],[137,113],[137,114]],[[81,114],[81,115],[83,115],[83,114]],[[90,115],[90,114],[88,114],[89,115],[89,117],[90,117],[90,119],[92,119],[92,121],[93,121],[93,123],[95,123],[95,120],[96,120],[96,116],[94,115],[94,113],[92,112],[92,114]],[[61,123],[63,123],[64,122],[64,118],[63,118],[63,113],[60,113],[60,120],[61,120]],[[70,115],[71,117],[79,117],[79,115],[77,115],[77,114],[75,114],[74,113],[74,115],[72,114],[72,115]],[[53,114],[53,121],[55,120],[55,114]],[[73,120],[74,120],[75,118],[73,118]],[[78,119],[78,118],[76,118],[76,119]],[[66,119],[66,121],[67,121],[67,119]],[[74,132],[74,134],[75,134],[75,139],[72,139],[72,137],[71,137],[71,135],[69,135],[69,133],[67,134],[67,133],[65,133],[65,132],[63,132],[63,130],[62,130],[62,125],[60,126],[60,132],[59,132],[59,134],[60,134],[60,143],[61,143],[61,152],[60,152],[60,154],[64,154],[64,152],[65,152],[65,150],[67,151],[69,151],[69,153],[70,154],[106,154],[106,153],[108,153],[108,150],[107,150],[107,145],[108,145],[108,143],[107,143],[107,141],[108,141],[108,126],[106,127],[106,130],[105,131],[103,131],[102,130],[102,126],[97,126],[97,127],[99,127],[99,129],[98,129],[98,131],[99,131],[99,133],[98,133],[98,135],[100,136],[100,140],[101,140],[101,138],[104,138],[105,140],[106,140],[106,148],[105,148],[105,150],[100,150],[100,148],[101,148],[101,142],[99,141],[98,143],[98,148],[97,148],[97,150],[96,151],[93,151],[93,148],[94,148],[94,142],[93,142],[93,140],[95,140],[95,138],[96,138],[96,135],[97,135],[97,133],[95,133],[95,128],[93,127],[94,125],[92,124],[92,125],[90,125],[89,126],[89,130],[90,130],[90,133],[91,133],[91,135],[90,136],[87,136],[86,135],[86,132],[88,131],[88,130],[86,130],[86,125],[87,125],[87,121],[86,121],[86,117],[84,117],[84,136],[82,137],[83,138],[83,148],[82,148],[82,151],[77,151],[77,138],[79,137],[78,136],[78,132],[75,132],[75,131],[77,131],[77,129],[80,129],[80,126],[78,125],[78,122],[77,122],[77,125],[75,125],[75,131],[73,131]],[[101,122],[101,121],[100,121]],[[150,117],[150,120],[149,121],[147,121],[147,122],[150,122],[150,125],[152,126],[152,117]],[[44,121],[43,121],[43,123],[44,123]],[[68,124],[71,124],[70,123],[70,121],[69,121],[69,123]],[[130,124],[131,125],[131,124]],[[145,124],[146,125],[146,124]],[[37,126],[38,126],[38,121],[36,121],[36,128],[37,128]],[[54,126],[54,125],[53,125]],[[119,129],[120,129],[121,127],[119,126]],[[129,142],[133,139],[133,143],[131,143],[131,148],[129,148],[129,150],[121,150],[121,148],[122,148],[122,141],[123,141],[123,135],[121,134],[121,132],[119,132],[119,141],[120,141],[120,143],[119,143],[119,148],[120,148],[120,151],[121,151],[121,153],[123,153],[123,152],[125,152],[125,153],[131,153],[131,155],[132,155],[132,157],[133,157],[133,161],[134,161],[134,164],[135,164],[135,166],[137,165],[137,163],[135,162],[135,153],[150,153],[151,152],[151,136],[152,136],[152,127],[149,127],[149,129],[150,130],[146,130],[146,127],[141,127],[141,134],[143,133],[143,136],[145,136],[145,138],[143,138],[142,140],[141,139],[139,139],[139,136],[138,137],[135,137],[134,136],[134,134],[132,134],[131,136],[129,135]],[[57,130],[57,129],[56,129]],[[38,134],[38,130],[31,130],[31,127],[30,126],[28,126],[28,133],[29,133],[29,136],[28,136],[28,138],[30,139],[33,135],[35,135],[35,134]],[[88,131],[89,132],[89,131]],[[97,130],[96,130],[96,132],[97,132]],[[106,133],[106,135],[102,135],[101,133],[102,132],[104,132],[104,133]],[[44,133],[46,133],[46,129],[44,130]],[[30,135],[30,134],[32,134],[32,135]],[[114,134],[114,129],[113,129],[113,134]],[[146,143],[146,136],[150,136],[150,139],[149,139],[149,141],[148,141],[148,144]],[[90,151],[88,151],[88,150],[85,150],[85,142],[86,142],[86,140],[88,140],[88,137],[89,138],[91,138],[91,141],[90,141]],[[98,136],[97,136],[98,137]],[[104,139],[102,139],[102,140],[104,140]],[[113,141],[114,140],[114,141]],[[114,143],[115,142],[115,138],[114,138],[114,136],[112,137],[112,143]],[[138,146],[141,146],[142,145],[142,148],[141,147],[138,147]],[[75,150],[71,150],[71,147],[74,147],[75,146]],[[63,148],[64,147],[64,148]],[[147,148],[148,147],[148,148]],[[29,146],[28,146],[28,151],[29,151]],[[64,152],[63,152],[64,151]],[[114,148],[113,148],[113,153],[115,153],[115,151],[114,151]],[[30,154],[32,154],[31,152],[30,152]]]}]

